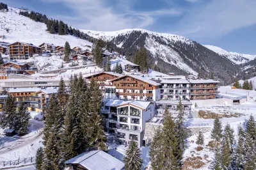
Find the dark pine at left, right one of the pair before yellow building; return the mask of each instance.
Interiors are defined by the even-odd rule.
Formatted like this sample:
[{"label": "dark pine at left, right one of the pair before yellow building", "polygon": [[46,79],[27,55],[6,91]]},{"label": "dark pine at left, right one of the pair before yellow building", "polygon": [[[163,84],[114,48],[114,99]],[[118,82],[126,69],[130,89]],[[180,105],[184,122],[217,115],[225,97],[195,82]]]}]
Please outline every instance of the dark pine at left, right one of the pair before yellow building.
[{"label": "dark pine at left, right one of the pair before yellow building", "polygon": [[19,135],[24,135],[28,133],[29,120],[31,118],[30,113],[28,112],[28,106],[21,102],[17,111],[17,129]]}]

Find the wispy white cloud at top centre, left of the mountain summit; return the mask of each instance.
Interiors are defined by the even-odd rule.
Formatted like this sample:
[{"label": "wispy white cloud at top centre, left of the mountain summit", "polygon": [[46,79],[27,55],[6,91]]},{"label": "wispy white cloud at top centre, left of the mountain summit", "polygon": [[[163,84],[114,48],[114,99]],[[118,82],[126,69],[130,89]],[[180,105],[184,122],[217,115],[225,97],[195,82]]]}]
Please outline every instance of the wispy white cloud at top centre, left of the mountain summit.
[{"label": "wispy white cloud at top centre, left of the mountain summit", "polygon": [[[43,1],[43,0],[42,0]],[[80,29],[92,29],[97,31],[115,31],[118,29],[140,27],[146,28],[155,23],[160,15],[180,15],[180,10],[163,9],[149,12],[138,12],[131,10],[133,1],[118,1],[114,6],[110,6],[105,0],[44,0],[49,3],[63,3],[71,8],[75,16],[70,15],[54,16],[64,20],[72,26]]]}]

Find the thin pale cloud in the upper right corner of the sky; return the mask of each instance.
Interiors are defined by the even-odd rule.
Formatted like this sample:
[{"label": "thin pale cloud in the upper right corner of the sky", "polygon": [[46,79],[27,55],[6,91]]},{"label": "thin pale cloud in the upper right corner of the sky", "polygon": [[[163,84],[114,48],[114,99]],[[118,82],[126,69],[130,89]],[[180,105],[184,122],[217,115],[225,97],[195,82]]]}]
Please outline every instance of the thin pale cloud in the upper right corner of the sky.
[{"label": "thin pale cloud in the upper right corner of the sky", "polygon": [[189,10],[178,34],[213,38],[256,24],[255,0],[213,0]]}]

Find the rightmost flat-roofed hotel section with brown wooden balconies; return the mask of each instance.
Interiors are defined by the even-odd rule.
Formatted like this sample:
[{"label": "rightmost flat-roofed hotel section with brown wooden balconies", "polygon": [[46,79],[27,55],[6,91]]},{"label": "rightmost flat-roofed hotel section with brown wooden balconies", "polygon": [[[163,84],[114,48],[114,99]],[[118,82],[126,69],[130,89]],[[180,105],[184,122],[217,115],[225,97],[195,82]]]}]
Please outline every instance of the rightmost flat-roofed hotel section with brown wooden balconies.
[{"label": "rightmost flat-roofed hotel section with brown wooden balconies", "polygon": [[216,98],[218,95],[218,83],[214,80],[189,80],[190,100],[204,100]]}]

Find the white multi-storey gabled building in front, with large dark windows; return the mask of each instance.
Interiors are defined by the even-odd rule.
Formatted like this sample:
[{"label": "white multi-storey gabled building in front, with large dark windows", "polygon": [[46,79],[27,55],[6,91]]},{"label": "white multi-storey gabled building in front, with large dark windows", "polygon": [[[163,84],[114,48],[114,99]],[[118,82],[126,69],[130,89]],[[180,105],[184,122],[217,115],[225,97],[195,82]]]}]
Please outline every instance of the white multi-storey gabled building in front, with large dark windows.
[{"label": "white multi-storey gabled building in front, with large dark windows", "polygon": [[115,133],[115,141],[129,144],[131,140],[143,146],[145,123],[154,116],[154,103],[136,100],[109,100],[102,109],[108,132]]}]

